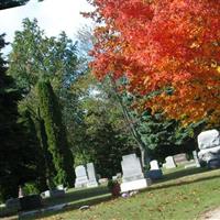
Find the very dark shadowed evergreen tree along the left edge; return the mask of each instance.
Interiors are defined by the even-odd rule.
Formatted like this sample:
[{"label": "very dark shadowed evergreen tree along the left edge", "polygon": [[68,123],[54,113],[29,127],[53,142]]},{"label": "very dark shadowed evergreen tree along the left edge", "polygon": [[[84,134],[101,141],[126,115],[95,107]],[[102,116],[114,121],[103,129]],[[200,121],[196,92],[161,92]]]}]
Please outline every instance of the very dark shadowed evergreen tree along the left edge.
[{"label": "very dark shadowed evergreen tree along the left edge", "polygon": [[[0,50],[4,46],[0,36]],[[0,200],[18,196],[18,186],[36,180],[38,172],[37,143],[28,122],[20,120],[20,91],[6,75],[6,62],[0,56]],[[41,185],[41,184],[40,184]]]}]

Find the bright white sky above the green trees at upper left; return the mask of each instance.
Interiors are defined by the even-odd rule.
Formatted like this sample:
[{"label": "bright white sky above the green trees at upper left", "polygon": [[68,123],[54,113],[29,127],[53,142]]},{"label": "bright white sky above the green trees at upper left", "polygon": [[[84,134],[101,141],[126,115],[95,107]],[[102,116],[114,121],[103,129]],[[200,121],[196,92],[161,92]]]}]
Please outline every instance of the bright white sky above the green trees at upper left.
[{"label": "bright white sky above the green trees at upper left", "polygon": [[0,34],[6,33],[6,41],[12,42],[14,31],[22,30],[22,20],[36,18],[47,36],[57,36],[65,31],[74,40],[78,29],[91,24],[80,12],[91,10],[86,0],[31,0],[26,6],[0,11]]}]

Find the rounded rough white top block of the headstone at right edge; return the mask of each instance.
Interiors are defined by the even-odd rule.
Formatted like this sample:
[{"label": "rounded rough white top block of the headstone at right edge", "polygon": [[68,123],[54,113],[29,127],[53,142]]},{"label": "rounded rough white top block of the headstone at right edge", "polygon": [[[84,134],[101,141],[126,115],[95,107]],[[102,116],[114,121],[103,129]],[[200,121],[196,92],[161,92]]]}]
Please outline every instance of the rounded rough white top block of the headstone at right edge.
[{"label": "rounded rough white top block of the headstone at right edge", "polygon": [[220,146],[220,133],[216,129],[204,131],[198,135],[198,146],[200,150]]}]

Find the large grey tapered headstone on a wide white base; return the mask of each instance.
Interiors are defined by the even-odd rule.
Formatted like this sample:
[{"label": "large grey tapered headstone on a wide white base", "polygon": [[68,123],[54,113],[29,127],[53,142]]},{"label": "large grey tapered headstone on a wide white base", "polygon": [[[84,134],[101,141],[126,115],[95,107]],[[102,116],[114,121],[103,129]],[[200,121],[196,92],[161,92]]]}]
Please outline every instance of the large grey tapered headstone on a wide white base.
[{"label": "large grey tapered headstone on a wide white base", "polygon": [[122,184],[121,193],[146,188],[151,179],[144,177],[141,162],[135,154],[122,156]]}]

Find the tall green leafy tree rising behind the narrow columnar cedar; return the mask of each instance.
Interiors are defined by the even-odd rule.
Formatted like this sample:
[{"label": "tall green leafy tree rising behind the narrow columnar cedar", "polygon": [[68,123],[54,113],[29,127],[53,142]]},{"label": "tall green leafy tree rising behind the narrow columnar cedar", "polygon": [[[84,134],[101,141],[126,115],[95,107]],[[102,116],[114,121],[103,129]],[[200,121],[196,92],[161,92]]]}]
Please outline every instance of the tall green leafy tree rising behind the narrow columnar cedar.
[{"label": "tall green leafy tree rising behind the narrow columnar cedar", "polygon": [[[74,94],[69,92],[69,86],[72,81],[80,75],[80,72],[77,70],[78,58],[76,55],[76,46],[64,32],[61,33],[58,37],[47,37],[44,31],[37,25],[36,20],[30,21],[25,19],[23,21],[22,31],[15,32],[9,61],[8,74],[15,79],[16,86],[22,89],[23,98],[19,103],[20,112],[30,112],[30,117],[35,127],[35,134],[38,139],[38,145],[43,154],[41,161],[45,168],[42,170],[45,172],[48,187],[53,188],[54,184],[62,182],[63,177],[59,179],[58,176],[65,176],[65,174],[57,174],[57,168],[55,168],[55,164],[53,163],[54,155],[48,151],[48,142],[52,140],[52,136],[48,138],[47,134],[50,133],[50,135],[52,135],[53,132],[48,131],[48,128],[45,128],[45,120],[42,119],[40,95],[36,85],[44,78],[50,79],[53,85],[53,90],[59,99],[59,105],[57,107],[59,109],[53,111],[56,113],[57,111],[62,111],[62,116],[61,112],[58,113],[58,117],[63,118],[64,121],[62,128],[66,127],[68,131],[70,129],[74,131],[76,123],[73,112],[77,109],[77,102],[75,102],[77,99]],[[52,102],[54,100],[52,100]],[[53,118],[53,120],[55,118]],[[53,124],[52,121],[50,121],[50,123]],[[57,121],[54,123],[56,124]],[[62,129],[62,131],[64,132],[65,129]],[[68,133],[70,134],[70,132]],[[65,141],[63,141],[64,139]],[[62,135],[61,142],[67,147],[66,134],[64,136]],[[57,151],[59,152],[59,148],[57,148]],[[69,152],[69,154],[70,157],[72,152]],[[66,169],[70,169],[73,166],[72,160],[68,160],[68,157],[65,162],[61,161],[58,163],[64,163],[62,166],[65,167],[67,167],[67,163],[69,163],[69,168]],[[53,180],[54,176],[57,177],[56,183]],[[70,177],[69,174],[68,176]],[[70,183],[70,180],[68,182]],[[70,185],[73,185],[73,183]]]}]

